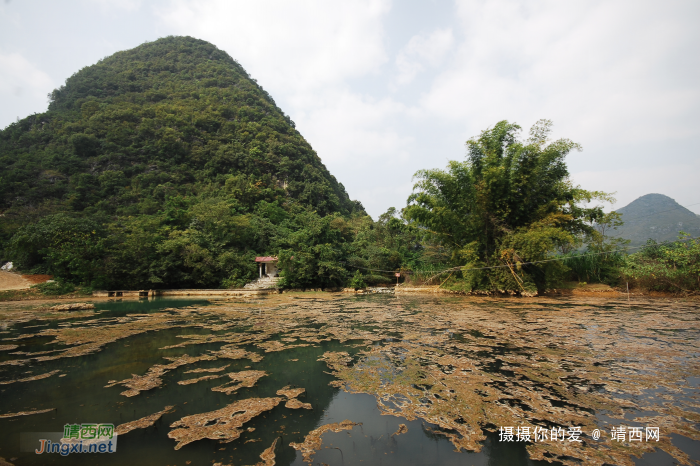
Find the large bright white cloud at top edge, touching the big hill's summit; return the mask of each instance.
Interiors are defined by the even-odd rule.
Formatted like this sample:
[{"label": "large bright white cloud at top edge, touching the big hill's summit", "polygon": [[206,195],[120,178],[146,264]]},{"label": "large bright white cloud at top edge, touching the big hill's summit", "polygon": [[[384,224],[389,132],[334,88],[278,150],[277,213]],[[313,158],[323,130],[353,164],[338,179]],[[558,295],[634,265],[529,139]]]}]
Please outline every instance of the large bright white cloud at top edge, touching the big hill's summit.
[{"label": "large bright white cloud at top edge, touching the big hill's summit", "polygon": [[287,93],[316,92],[376,70],[387,60],[388,11],[383,0],[176,0],[156,13],[178,33],[226,50],[265,88]]}]

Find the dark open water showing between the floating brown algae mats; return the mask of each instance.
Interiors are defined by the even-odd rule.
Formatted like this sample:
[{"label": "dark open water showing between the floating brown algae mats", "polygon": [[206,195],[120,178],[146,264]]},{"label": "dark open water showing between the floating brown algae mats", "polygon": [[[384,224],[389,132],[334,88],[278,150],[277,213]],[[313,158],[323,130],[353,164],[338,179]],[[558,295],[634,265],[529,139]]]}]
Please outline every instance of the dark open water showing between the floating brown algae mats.
[{"label": "dark open water showing between the floating brown algae mats", "polygon": [[[382,300],[392,299],[382,297]],[[303,301],[303,300],[302,300]],[[367,301],[371,304],[371,300]],[[382,301],[383,302],[383,301]],[[216,303],[214,303],[216,304]],[[167,309],[197,306],[206,309],[210,301],[165,300],[99,302],[92,316],[63,320],[36,319],[7,327],[0,333],[0,345],[18,344],[13,351],[0,351],[0,363],[27,356],[14,352],[40,352],[62,348],[49,343],[50,336],[37,336],[13,340],[19,335],[39,333],[47,329],[66,328],[69,325],[86,325],[94,321],[112,323],[113,320],[135,314],[160,313]],[[412,303],[411,306],[420,307]],[[173,315],[174,321],[183,320],[182,315]],[[215,317],[209,321],[215,320]],[[309,324],[318,328],[320,324]],[[235,331],[246,332],[251,327]],[[367,325],[365,332],[374,331]],[[227,330],[231,332],[229,328]],[[448,438],[439,433],[434,424],[421,419],[408,421],[405,418],[382,415],[374,396],[365,393],[348,393],[329,386],[335,380],[327,365],[318,359],[326,352],[348,352],[355,356],[357,340],[340,343],[338,340],[322,341],[312,346],[296,347],[277,352],[263,352],[253,345],[242,348],[264,356],[259,362],[250,359],[216,359],[184,365],[163,375],[162,386],[141,392],[138,396],[120,395],[121,386],[104,388],[110,380],[128,379],[133,374],[144,374],[156,364],[167,363],[164,357],[184,354],[197,356],[219,350],[221,342],[196,346],[161,349],[182,343],[180,335],[210,335],[222,333],[197,327],[174,327],[127,336],[105,345],[101,350],[79,357],[67,357],[51,361],[32,360],[24,365],[0,366],[0,381],[31,377],[49,371],[60,371],[59,375],[0,385],[0,415],[41,409],[53,409],[43,414],[0,418],[0,457],[14,465],[254,465],[261,461],[259,455],[278,439],[275,449],[277,465],[304,465],[300,452],[289,447],[290,442],[300,443],[304,437],[320,425],[350,419],[361,423],[352,430],[328,432],[322,437],[322,446],[313,457],[313,464],[329,465],[544,465],[545,461],[529,459],[525,443],[499,442],[498,434],[485,432],[486,440],[479,453],[456,452]],[[443,332],[438,329],[433,333]],[[393,337],[394,334],[392,334]],[[398,334],[396,334],[398,335]],[[466,338],[493,339],[482,331],[455,333],[451,338],[463,343]],[[471,340],[470,340],[471,341]],[[47,344],[48,343],[48,344]],[[375,343],[375,344],[381,344]],[[507,348],[505,344],[493,346],[495,362],[484,365],[487,371],[502,371],[512,377],[512,371],[501,369],[498,359]],[[481,357],[477,356],[477,357]],[[177,381],[205,374],[184,375],[193,368],[209,369],[228,364],[226,371],[259,370],[267,372],[253,387],[241,388],[226,395],[211,391],[222,384],[222,380],[204,380],[191,385],[179,385]],[[218,410],[236,400],[252,397],[274,397],[278,389],[292,385],[303,387],[306,393],[300,397],[311,403],[312,410],[289,409],[284,403],[247,422],[248,428],[240,438],[230,443],[203,439],[175,450],[175,441],[168,438],[171,423],[184,416]],[[697,383],[696,383],[697,385]],[[697,395],[694,393],[693,396]],[[113,423],[115,426],[130,422],[174,405],[172,412],[164,414],[154,425],[136,429],[119,436],[117,452],[113,454],[59,454],[37,455],[20,451],[20,437],[28,432],[63,432],[65,424]],[[602,422],[602,421],[601,421]],[[407,431],[395,433],[400,424]],[[688,453],[692,460],[698,459],[697,443],[687,437],[677,436],[674,444]],[[38,445],[37,445],[38,446]],[[675,464],[673,458],[657,450],[641,459],[633,460],[639,465]],[[558,464],[554,462],[554,464]]]}]

